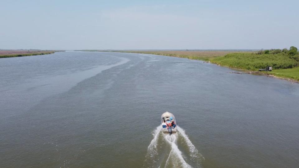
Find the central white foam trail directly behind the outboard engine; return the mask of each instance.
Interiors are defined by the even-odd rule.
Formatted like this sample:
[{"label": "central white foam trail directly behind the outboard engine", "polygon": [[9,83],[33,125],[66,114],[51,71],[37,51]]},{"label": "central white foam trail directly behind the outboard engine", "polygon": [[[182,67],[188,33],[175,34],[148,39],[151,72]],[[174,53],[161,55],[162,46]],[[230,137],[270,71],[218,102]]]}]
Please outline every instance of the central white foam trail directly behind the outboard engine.
[{"label": "central white foam trail directly behind the outboard engine", "polygon": [[170,167],[191,167],[188,165],[188,163],[184,160],[182,156],[182,152],[178,149],[178,146],[176,144],[177,141],[177,135],[172,134],[172,135],[164,135],[165,140],[171,145],[171,151],[169,153],[169,156],[166,160],[165,167],[168,167],[170,164],[170,159],[173,159],[175,156],[179,159],[180,162],[177,162],[178,160],[173,160],[171,163],[173,165],[169,165]]}]

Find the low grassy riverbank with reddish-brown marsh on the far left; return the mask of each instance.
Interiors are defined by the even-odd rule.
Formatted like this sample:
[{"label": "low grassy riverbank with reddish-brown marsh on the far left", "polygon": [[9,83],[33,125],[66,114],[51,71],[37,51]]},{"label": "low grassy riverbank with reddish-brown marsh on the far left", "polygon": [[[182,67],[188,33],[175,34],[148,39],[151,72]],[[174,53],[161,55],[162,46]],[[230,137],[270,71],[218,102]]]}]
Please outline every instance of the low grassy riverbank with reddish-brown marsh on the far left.
[{"label": "low grassy riverbank with reddish-brown marsh on the far left", "polygon": [[53,54],[63,50],[0,50],[0,58]]}]

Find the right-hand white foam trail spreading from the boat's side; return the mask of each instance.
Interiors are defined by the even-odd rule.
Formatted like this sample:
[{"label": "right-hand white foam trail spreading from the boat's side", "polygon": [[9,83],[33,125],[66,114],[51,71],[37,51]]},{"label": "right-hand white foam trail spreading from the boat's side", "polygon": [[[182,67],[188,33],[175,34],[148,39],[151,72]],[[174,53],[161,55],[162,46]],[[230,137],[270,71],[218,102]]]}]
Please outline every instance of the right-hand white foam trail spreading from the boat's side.
[{"label": "right-hand white foam trail spreading from the boat's side", "polygon": [[192,144],[189,137],[185,133],[185,130],[183,128],[177,127],[178,133],[184,138],[184,142],[186,142],[188,150],[189,150],[189,156],[191,157],[191,160],[196,163],[197,167],[201,167],[202,161],[205,160],[205,158],[198,152],[196,147]]}]

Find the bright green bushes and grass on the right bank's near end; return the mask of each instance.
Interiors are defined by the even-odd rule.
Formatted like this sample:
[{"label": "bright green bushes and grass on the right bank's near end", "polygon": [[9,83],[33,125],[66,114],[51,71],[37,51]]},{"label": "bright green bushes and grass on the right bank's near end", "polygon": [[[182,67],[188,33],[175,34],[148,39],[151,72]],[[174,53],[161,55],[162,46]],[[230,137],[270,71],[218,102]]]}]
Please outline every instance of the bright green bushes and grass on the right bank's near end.
[{"label": "bright green bushes and grass on the right bank's near end", "polygon": [[261,73],[299,82],[299,53],[294,46],[289,50],[271,49],[260,50],[257,53],[232,53],[211,59],[211,62],[243,71],[258,71],[270,66],[273,67],[273,71],[261,71]]}]

